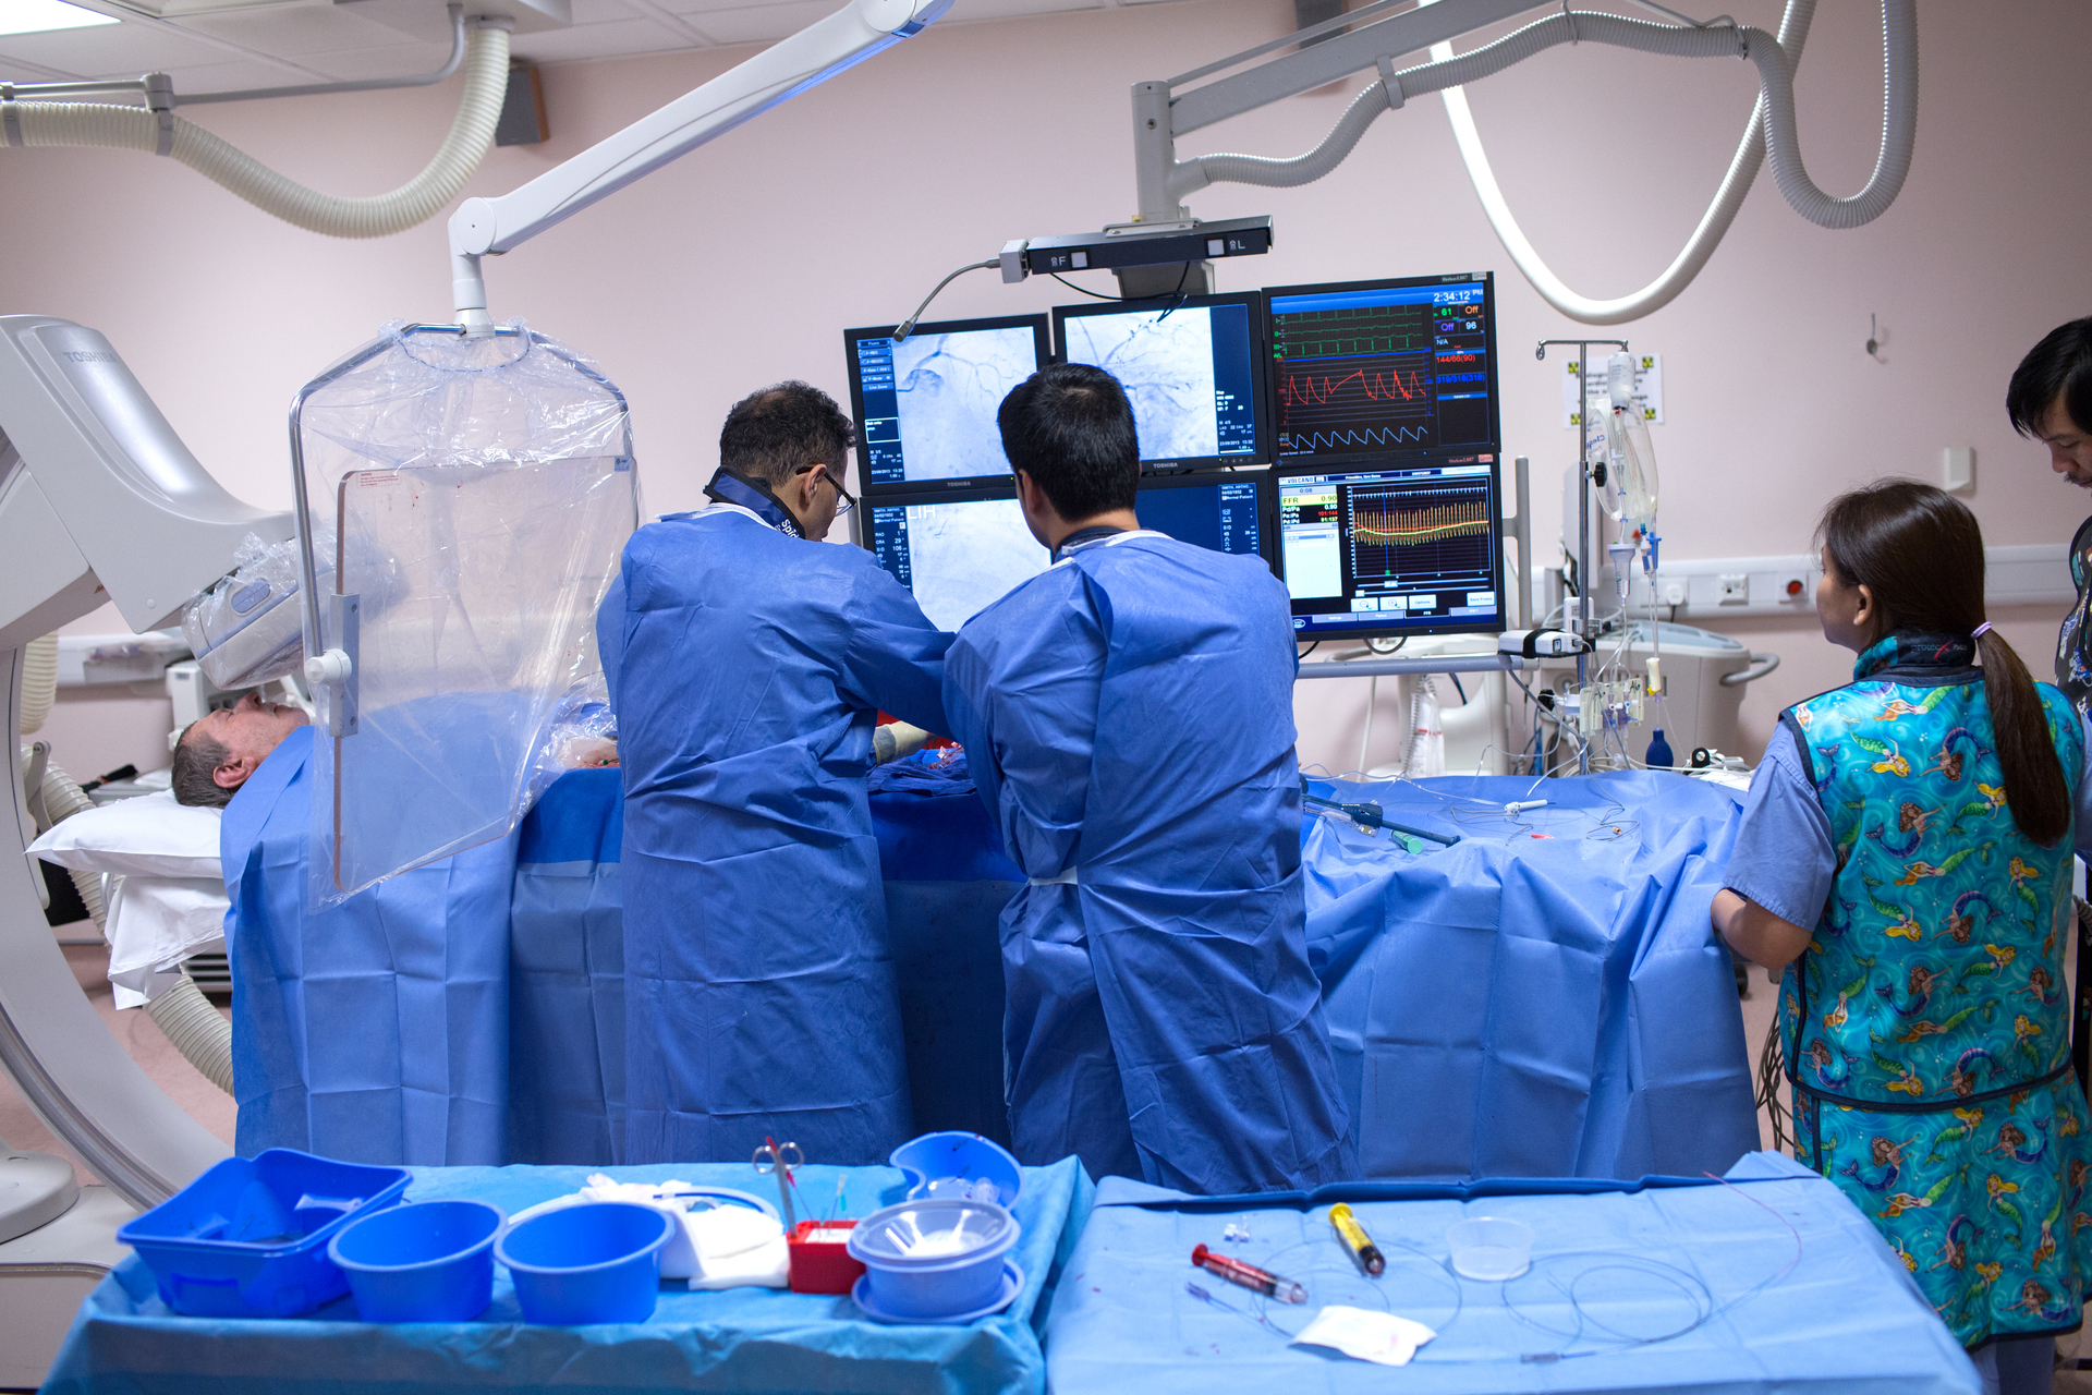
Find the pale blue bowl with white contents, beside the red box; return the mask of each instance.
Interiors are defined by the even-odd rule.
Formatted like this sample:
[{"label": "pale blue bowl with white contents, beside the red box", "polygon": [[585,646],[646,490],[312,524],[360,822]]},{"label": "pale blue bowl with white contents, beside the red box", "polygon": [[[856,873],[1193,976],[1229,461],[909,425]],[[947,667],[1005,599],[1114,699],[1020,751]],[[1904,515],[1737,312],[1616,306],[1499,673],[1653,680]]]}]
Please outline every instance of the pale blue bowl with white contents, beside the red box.
[{"label": "pale blue bowl with white contents, beside the red box", "polygon": [[937,1322],[994,1301],[1017,1236],[992,1200],[904,1200],[851,1228],[849,1257],[883,1316]]}]

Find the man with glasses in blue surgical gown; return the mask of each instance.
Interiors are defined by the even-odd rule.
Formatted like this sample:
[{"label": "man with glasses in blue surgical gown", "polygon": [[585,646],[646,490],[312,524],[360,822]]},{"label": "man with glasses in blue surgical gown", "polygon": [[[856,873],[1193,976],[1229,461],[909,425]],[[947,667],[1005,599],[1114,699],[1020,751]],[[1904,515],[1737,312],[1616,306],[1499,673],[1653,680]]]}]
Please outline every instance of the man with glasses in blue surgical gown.
[{"label": "man with glasses in blue surgical gown", "polygon": [[626,1163],[914,1127],[866,805],[879,709],[941,732],[948,634],[816,542],[849,418],[780,383],[720,433],[711,508],[632,535],[596,621],[626,784]]}]

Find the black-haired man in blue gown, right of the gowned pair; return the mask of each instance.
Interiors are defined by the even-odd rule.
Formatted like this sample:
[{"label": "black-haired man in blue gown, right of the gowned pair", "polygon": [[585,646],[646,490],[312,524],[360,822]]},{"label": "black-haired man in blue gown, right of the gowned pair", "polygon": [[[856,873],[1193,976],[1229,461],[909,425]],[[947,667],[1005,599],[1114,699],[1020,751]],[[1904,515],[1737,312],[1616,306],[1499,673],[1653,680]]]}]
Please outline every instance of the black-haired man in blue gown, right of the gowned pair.
[{"label": "black-haired man in blue gown, right of the gowned pair", "polygon": [[1308,964],[1287,590],[1140,529],[1119,383],[1002,404],[1054,565],[960,630],[952,734],[1031,883],[1002,912],[1010,1136],[1190,1192],[1356,1173]]}]

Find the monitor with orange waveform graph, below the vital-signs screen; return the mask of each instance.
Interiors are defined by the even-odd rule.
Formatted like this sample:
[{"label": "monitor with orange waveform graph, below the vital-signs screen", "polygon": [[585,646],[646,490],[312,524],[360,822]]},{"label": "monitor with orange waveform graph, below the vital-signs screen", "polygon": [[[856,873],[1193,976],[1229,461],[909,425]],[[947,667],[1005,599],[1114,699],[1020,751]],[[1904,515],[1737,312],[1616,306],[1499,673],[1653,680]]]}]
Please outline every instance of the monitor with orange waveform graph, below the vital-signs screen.
[{"label": "monitor with orange waveform graph, below the vital-signs screen", "polygon": [[1282,473],[1278,558],[1301,640],[1504,627],[1498,456]]}]

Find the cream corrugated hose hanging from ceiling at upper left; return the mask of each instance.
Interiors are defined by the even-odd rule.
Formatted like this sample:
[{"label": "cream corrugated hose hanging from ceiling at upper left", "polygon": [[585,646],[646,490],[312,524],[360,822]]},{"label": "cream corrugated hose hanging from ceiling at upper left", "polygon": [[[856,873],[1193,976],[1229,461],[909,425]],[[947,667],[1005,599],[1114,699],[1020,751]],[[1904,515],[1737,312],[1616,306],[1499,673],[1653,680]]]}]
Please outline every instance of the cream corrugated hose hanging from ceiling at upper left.
[{"label": "cream corrugated hose hanging from ceiling at upper left", "polygon": [[[308,232],[387,236],[427,222],[464,188],[494,142],[508,94],[508,31],[473,29],[464,40],[464,100],[429,167],[389,195],[341,199],[305,188],[211,132],[174,117],[174,159]],[[103,102],[17,102],[23,144],[153,151],[159,115]]]}]

